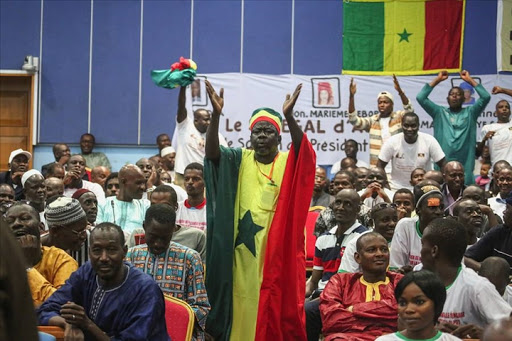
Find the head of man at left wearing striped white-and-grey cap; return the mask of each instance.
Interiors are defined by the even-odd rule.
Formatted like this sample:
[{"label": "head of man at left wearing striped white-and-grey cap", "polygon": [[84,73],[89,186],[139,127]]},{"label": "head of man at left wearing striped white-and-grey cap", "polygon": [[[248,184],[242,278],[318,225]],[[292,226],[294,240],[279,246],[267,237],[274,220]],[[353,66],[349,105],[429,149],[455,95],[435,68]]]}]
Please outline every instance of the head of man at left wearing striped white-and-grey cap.
[{"label": "head of man at left wearing striped white-and-grey cap", "polygon": [[42,237],[42,244],[68,252],[80,250],[87,239],[87,217],[78,200],[59,197],[44,213],[50,232]]}]

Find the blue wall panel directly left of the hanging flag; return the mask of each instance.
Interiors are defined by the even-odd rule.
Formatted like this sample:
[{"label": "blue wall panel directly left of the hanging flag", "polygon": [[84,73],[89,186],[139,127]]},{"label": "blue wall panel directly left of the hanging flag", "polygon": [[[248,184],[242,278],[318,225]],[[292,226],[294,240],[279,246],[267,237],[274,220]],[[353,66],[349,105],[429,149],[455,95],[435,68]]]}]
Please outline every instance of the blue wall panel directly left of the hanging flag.
[{"label": "blue wall panel directly left of the hanging flag", "polygon": [[341,73],[342,13],[342,1],[295,2],[293,73]]}]

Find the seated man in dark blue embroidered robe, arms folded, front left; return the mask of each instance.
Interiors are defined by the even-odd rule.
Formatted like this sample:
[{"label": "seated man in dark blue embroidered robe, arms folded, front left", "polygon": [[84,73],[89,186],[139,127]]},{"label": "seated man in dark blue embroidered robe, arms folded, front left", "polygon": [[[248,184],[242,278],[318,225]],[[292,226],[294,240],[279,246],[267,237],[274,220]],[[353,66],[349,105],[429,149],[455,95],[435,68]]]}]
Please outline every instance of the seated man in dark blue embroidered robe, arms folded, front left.
[{"label": "seated man in dark blue embroidered robe, arms folded, front left", "polygon": [[111,223],[91,232],[90,262],[37,311],[41,325],[86,340],[169,340],[155,281],[129,263],[124,234]]}]

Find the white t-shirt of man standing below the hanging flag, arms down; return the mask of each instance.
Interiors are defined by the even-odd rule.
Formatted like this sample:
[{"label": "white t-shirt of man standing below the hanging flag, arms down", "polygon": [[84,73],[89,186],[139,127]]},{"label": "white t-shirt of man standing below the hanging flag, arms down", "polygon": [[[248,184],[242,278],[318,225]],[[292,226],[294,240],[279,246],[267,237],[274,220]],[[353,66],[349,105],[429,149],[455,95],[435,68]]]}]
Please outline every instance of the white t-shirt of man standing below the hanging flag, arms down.
[{"label": "white t-shirt of man standing below the hanging flag, arms down", "polygon": [[409,181],[415,168],[432,169],[432,161],[438,162],[445,157],[443,149],[436,139],[425,133],[418,133],[415,143],[407,143],[404,134],[391,136],[382,146],[379,159],[391,162],[391,188],[412,189]]}]

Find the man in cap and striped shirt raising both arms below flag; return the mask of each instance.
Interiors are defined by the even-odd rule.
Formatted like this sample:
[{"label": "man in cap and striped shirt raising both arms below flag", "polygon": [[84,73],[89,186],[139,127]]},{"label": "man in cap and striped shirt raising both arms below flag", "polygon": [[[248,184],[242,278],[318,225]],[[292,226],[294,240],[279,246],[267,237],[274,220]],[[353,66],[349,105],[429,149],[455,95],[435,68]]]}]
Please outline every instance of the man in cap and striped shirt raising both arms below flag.
[{"label": "man in cap and striped shirt raising both arms below flag", "polygon": [[[354,126],[354,130],[367,131],[370,133],[370,165],[377,166],[379,152],[387,139],[402,132],[402,116],[406,112],[413,112],[411,101],[402,91],[398,79],[393,75],[395,89],[404,105],[403,111],[393,111],[393,95],[388,91],[381,91],[377,95],[379,113],[371,117],[361,118],[357,116],[354,97],[356,84],[354,79],[350,80],[350,99],[348,104],[348,121]],[[387,173],[391,172],[391,167]]]}]

